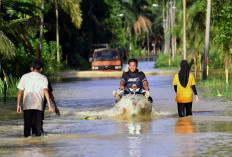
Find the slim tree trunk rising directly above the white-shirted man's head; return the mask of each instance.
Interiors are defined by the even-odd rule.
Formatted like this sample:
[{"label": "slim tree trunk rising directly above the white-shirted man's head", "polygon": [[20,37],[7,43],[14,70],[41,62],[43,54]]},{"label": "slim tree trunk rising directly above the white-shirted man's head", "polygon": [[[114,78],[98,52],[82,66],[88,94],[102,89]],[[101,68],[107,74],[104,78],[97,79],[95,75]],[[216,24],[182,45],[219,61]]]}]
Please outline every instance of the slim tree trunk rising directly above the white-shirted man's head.
[{"label": "slim tree trunk rising directly above the white-shirted man's head", "polygon": [[43,30],[44,30],[44,0],[41,0],[41,10],[42,10],[42,14],[40,17],[40,36],[39,36],[39,59],[41,59],[41,52],[42,52],[42,48],[43,48]]}]

